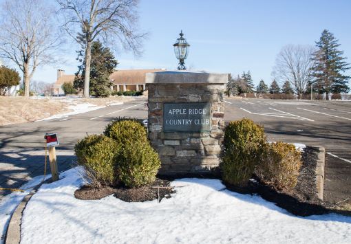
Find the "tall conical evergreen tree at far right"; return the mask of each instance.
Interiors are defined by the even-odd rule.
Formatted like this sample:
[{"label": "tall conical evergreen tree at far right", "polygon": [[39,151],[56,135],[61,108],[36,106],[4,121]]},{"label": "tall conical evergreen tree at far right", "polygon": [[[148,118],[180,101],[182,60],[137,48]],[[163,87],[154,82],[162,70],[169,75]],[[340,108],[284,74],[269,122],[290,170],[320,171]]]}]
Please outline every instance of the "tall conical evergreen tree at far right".
[{"label": "tall conical evergreen tree at far right", "polygon": [[347,93],[350,91],[348,80],[350,76],[344,73],[350,69],[349,64],[345,62],[343,51],[340,51],[334,35],[328,30],[323,30],[321,38],[316,42],[317,52],[312,57],[314,65],[312,75],[319,93],[326,93],[326,99],[329,99],[329,93]]}]

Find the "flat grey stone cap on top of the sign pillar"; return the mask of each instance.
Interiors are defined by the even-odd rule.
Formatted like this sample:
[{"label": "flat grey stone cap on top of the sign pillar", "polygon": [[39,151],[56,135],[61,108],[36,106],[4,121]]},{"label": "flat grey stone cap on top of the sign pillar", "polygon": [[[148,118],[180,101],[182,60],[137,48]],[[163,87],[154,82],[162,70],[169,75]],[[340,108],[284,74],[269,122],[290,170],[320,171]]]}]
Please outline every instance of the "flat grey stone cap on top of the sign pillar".
[{"label": "flat grey stone cap on top of the sign pillar", "polygon": [[160,71],[147,73],[146,84],[226,84],[228,74],[213,74],[194,71]]}]

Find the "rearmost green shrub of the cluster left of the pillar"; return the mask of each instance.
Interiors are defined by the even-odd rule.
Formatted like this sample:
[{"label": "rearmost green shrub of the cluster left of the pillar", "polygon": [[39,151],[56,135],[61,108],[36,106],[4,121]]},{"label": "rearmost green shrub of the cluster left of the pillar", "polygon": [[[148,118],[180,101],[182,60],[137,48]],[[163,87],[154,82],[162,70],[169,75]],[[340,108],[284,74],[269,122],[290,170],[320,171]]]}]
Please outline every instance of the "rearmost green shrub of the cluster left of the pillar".
[{"label": "rearmost green shrub of the cluster left of the pillar", "polygon": [[117,118],[107,124],[104,135],[122,145],[127,142],[149,142],[146,127],[137,120],[127,118]]}]

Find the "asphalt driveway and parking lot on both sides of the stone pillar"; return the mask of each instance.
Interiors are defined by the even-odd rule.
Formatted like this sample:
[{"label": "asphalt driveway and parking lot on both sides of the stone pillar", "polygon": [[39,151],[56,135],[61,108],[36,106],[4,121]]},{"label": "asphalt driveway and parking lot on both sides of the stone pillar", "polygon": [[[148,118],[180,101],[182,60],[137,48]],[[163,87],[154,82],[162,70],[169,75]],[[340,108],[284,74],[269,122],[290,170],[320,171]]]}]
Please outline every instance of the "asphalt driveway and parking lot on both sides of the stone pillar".
[{"label": "asphalt driveway and parking lot on both sides of the stone pillar", "polygon": [[[58,133],[59,170],[75,162],[73,147],[87,133],[101,133],[118,116],[147,118],[145,98],[89,113],[42,122],[1,126],[0,187],[17,188],[43,175],[43,135]],[[351,102],[225,99],[226,122],[251,118],[265,127],[268,140],[323,146],[326,152],[324,199],[351,203]],[[9,192],[0,192],[6,195]]]}]

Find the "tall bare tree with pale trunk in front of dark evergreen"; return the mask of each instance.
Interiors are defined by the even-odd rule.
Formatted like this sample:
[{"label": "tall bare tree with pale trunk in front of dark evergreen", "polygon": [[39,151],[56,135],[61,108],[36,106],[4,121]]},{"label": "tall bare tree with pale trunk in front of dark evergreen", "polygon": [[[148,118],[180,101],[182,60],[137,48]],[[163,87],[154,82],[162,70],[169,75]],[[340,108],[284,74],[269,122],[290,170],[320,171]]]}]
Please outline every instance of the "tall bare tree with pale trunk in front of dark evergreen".
[{"label": "tall bare tree with pale trunk in front of dark evergreen", "polygon": [[[145,34],[138,33],[137,0],[56,0],[65,16],[64,30],[85,45],[85,98],[89,98],[91,48],[95,39],[105,44],[119,41],[125,49],[140,53]],[[78,28],[83,34],[76,37]],[[83,38],[83,40],[82,40]]]}]

